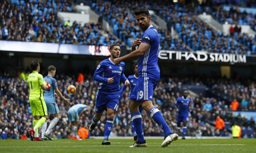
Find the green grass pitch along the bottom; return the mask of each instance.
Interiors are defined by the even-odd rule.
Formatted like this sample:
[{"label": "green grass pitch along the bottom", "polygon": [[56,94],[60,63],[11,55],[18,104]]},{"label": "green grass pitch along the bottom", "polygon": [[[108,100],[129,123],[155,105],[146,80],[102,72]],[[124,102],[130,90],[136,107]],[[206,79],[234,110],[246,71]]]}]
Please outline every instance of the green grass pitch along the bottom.
[{"label": "green grass pitch along the bottom", "polygon": [[54,141],[31,142],[30,140],[0,140],[0,152],[24,153],[66,153],[66,152],[102,152],[102,153],[255,153],[256,139],[178,139],[168,147],[162,148],[163,139],[146,139],[146,148],[129,148],[131,139],[111,139],[111,145],[102,146],[101,139],[72,141],[58,139]]}]

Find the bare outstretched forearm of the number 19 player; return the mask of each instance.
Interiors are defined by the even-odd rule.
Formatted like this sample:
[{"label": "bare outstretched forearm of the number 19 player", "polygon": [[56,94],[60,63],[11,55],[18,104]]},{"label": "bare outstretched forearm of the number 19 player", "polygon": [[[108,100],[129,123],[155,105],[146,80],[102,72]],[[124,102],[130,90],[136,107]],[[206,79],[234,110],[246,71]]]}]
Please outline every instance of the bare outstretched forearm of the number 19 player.
[{"label": "bare outstretched forearm of the number 19 player", "polygon": [[131,52],[130,54],[127,54],[119,58],[115,58],[114,63],[115,65],[118,65],[121,62],[129,61],[129,60],[137,60],[140,56],[142,56],[145,53],[147,49],[149,49],[149,44],[141,43],[139,45],[139,48]]}]

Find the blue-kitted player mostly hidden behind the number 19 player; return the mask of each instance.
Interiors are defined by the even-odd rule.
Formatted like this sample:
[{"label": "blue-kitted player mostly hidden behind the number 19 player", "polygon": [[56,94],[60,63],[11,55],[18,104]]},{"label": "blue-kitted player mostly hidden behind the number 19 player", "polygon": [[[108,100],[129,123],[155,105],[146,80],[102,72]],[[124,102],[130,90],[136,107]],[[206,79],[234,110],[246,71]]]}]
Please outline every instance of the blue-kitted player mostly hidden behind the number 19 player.
[{"label": "blue-kitted player mostly hidden behind the number 19 player", "polygon": [[[128,80],[130,82],[130,93],[129,93],[129,98],[131,96],[131,93],[133,92],[133,89],[135,87],[135,85],[137,84],[137,81],[138,81],[138,63],[134,63],[133,64],[133,71],[134,71],[134,75],[130,75],[128,76]],[[119,100],[123,99],[123,91],[125,91],[126,89],[126,86],[122,86],[122,89],[120,90],[119,92]],[[139,105],[139,112],[141,112],[141,114],[143,113],[143,108],[141,105]],[[134,141],[137,141],[137,134],[136,134],[136,130],[134,128],[134,125],[133,125],[133,121],[131,121],[131,128],[133,130],[133,139]]]}]

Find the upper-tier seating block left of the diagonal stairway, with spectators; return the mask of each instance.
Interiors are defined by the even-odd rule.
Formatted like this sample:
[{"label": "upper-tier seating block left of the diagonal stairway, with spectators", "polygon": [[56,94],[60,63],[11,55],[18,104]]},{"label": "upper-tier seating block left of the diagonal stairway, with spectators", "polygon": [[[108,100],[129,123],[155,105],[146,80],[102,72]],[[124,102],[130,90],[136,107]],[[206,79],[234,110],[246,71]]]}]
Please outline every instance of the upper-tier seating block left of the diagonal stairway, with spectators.
[{"label": "upper-tier seating block left of the diagonal stairway, with spectators", "polygon": [[[9,1],[0,3],[0,39],[80,45],[123,44],[101,25],[58,21],[57,13],[74,12],[66,1]],[[66,24],[65,24],[66,23]],[[69,26],[68,26],[69,25]]]}]

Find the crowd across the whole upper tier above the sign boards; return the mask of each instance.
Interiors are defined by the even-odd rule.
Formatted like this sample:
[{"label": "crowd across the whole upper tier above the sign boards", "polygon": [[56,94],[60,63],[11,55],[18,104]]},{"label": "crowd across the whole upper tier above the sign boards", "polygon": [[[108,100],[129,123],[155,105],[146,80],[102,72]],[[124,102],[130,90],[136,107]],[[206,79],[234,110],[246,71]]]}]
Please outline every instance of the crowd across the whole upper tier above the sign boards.
[{"label": "crowd across the whole upper tier above the sign boards", "polygon": [[[222,32],[215,32],[195,16],[204,11],[211,12],[220,23],[248,22],[255,27],[254,15],[239,12],[238,8],[228,12],[217,5],[204,7],[197,4],[188,7],[182,4],[165,5],[161,2],[149,1],[147,5],[143,5],[143,1],[77,1],[77,4],[89,5],[100,16],[98,23],[81,25],[70,21],[62,23],[57,19],[59,11],[74,12],[71,3],[67,1],[5,0],[0,3],[0,39],[104,46],[118,43],[131,47],[133,41],[142,36],[133,11],[143,6],[153,10],[167,23],[167,30],[157,29],[160,49],[192,49],[248,55],[256,53],[255,38],[240,33],[239,30],[232,30],[231,36],[224,36]],[[102,29],[103,19],[113,27],[113,33]],[[244,20],[243,23],[240,20]],[[158,25],[156,18],[152,18],[152,21]],[[172,36],[171,27],[175,28],[179,37]],[[255,29],[254,27],[252,28]]]}]

